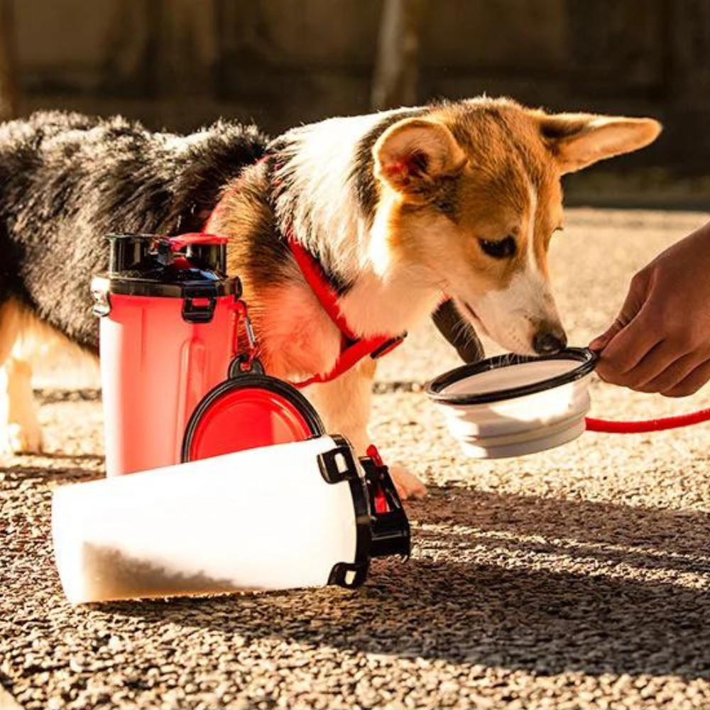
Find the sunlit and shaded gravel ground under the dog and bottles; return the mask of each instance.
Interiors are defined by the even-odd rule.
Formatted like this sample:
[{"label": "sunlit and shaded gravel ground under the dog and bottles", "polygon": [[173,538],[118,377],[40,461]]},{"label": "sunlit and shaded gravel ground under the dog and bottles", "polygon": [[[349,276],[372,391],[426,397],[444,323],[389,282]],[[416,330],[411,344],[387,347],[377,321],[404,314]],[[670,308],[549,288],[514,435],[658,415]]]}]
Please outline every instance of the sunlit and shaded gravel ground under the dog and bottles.
[{"label": "sunlit and shaded gravel ground under the dog and bottles", "polygon": [[[613,317],[636,268],[704,219],[571,210],[552,266],[572,343]],[[0,682],[21,706],[710,707],[708,427],[465,459],[420,393],[457,364],[424,329],[383,362],[374,414],[388,459],[430,486],[408,505],[412,559],[376,562],[355,592],[72,608],[50,492],[102,473],[102,416],[95,372],[61,362],[40,378],[48,454],[0,469]],[[593,413],[679,412],[709,395],[596,382]]]}]

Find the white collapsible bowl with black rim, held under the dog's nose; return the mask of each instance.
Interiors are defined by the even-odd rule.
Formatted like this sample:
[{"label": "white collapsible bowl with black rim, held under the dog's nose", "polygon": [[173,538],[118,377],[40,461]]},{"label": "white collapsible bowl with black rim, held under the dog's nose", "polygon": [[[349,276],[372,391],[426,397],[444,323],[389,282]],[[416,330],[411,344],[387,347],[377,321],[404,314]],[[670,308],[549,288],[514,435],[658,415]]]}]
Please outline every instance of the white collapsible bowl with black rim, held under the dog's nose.
[{"label": "white collapsible bowl with black rim, held under the dog's nose", "polygon": [[521,456],[584,432],[595,364],[594,353],[581,348],[496,356],[444,373],[427,384],[427,394],[468,456]]}]

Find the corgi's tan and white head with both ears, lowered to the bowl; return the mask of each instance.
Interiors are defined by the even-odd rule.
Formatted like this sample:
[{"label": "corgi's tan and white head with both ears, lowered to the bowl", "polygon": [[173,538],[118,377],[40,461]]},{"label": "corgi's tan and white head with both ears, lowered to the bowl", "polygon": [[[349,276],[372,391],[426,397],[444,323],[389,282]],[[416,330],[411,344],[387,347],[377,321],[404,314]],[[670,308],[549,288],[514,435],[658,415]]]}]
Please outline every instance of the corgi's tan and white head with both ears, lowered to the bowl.
[{"label": "corgi's tan and white head with both ears, lowered to the bowl", "polygon": [[376,237],[501,346],[555,352],[566,336],[547,249],[562,228],[560,178],[643,148],[660,129],[653,119],[545,114],[508,99],[402,119],[373,147]]}]

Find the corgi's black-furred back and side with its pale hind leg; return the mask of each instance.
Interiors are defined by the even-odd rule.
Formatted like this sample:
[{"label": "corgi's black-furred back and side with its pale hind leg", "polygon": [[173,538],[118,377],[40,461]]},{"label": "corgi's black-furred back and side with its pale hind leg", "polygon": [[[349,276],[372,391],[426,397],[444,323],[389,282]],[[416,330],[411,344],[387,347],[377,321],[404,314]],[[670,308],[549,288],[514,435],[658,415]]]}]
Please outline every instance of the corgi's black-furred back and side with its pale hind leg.
[{"label": "corgi's black-furred back and side with its pale hind leg", "polygon": [[98,352],[89,283],[107,266],[105,234],[198,231],[265,148],[253,126],[225,122],[191,136],[59,112],[0,125],[0,449],[42,447],[28,334]]}]

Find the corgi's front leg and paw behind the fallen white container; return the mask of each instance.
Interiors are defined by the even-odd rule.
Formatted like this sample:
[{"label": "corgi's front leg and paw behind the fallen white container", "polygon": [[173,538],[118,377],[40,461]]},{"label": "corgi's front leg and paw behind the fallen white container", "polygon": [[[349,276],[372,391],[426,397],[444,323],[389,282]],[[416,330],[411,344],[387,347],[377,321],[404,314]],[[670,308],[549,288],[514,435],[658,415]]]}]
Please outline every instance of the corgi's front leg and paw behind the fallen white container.
[{"label": "corgi's front leg and paw behind the fallen white container", "polygon": [[[359,456],[366,455],[371,444],[368,422],[375,371],[375,361],[367,358],[337,379],[305,391],[322,417],[326,431],[347,437]],[[425,496],[426,486],[404,466],[391,466],[390,473],[400,498]]]}]

